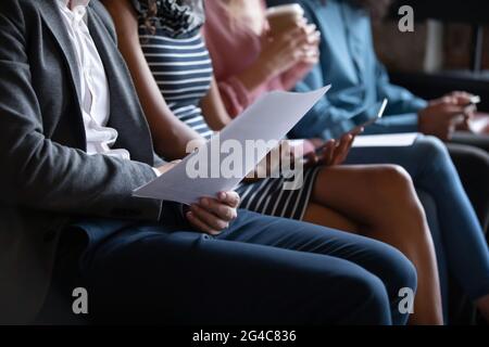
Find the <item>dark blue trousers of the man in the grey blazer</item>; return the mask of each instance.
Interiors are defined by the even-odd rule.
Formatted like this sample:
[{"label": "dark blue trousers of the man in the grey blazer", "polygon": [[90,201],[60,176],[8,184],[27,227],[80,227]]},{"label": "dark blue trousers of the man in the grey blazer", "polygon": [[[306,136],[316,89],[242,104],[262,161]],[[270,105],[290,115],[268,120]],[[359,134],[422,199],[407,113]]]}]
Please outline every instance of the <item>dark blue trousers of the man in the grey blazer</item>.
[{"label": "dark blue trousers of the man in the grey blazer", "polygon": [[[175,216],[178,216],[176,218]],[[79,261],[101,323],[404,324],[411,262],[365,237],[240,210],[218,236],[164,223],[85,220]]]}]

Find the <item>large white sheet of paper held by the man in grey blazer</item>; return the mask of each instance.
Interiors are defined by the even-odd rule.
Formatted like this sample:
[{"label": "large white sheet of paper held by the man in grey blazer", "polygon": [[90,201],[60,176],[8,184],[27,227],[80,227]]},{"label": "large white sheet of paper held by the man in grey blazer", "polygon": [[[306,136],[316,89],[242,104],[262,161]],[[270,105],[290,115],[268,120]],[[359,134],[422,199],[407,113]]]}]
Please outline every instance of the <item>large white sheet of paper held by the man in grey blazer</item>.
[{"label": "large white sheet of paper held by the man in grey blazer", "polygon": [[[234,190],[271,150],[250,155],[247,146],[281,140],[329,88],[309,93],[271,92],[262,97],[198,152],[137,189],[134,195],[192,204],[200,197],[214,197],[218,192]],[[229,172],[223,165],[236,149],[242,150],[242,167],[234,167]]]}]

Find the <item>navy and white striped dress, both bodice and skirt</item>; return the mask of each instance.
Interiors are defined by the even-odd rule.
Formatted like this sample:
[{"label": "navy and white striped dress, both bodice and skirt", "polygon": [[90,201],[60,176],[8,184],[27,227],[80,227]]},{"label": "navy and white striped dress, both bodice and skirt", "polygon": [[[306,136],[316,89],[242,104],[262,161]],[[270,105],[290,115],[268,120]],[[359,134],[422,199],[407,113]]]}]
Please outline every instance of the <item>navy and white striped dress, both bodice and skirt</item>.
[{"label": "navy and white striped dress, both bodice and skirt", "polygon": [[[163,11],[154,24],[154,35],[148,35],[145,25],[146,1],[133,0],[139,8],[139,38],[142,52],[163,98],[166,100],[171,111],[180,120],[195,129],[204,138],[212,136],[211,129],[205,124],[202,110],[199,107],[211,87],[213,68],[210,54],[200,35],[199,28],[189,28],[186,15],[178,15],[179,10],[186,7],[180,4],[193,4],[191,9],[198,9],[201,0],[159,0],[159,4],[175,4],[173,7],[177,14]],[[136,8],[138,10],[138,8]],[[190,8],[189,8],[190,9]],[[184,11],[190,14],[188,11]],[[193,12],[192,12],[193,13]],[[197,12],[196,12],[197,13]],[[165,21],[163,14],[168,15],[171,21]],[[180,13],[181,14],[181,13]],[[161,18],[161,21],[160,21]],[[185,21],[175,21],[177,18]],[[175,21],[174,21],[175,20]],[[191,22],[193,23],[193,22]],[[168,24],[173,31],[170,33]],[[190,26],[191,27],[191,26]],[[151,33],[152,34],[152,33]],[[304,184],[299,190],[284,190],[286,179],[264,179],[256,183],[242,183],[237,188],[241,195],[241,206],[249,210],[301,220],[304,216],[311,192],[314,187],[318,168],[305,172]]]}]

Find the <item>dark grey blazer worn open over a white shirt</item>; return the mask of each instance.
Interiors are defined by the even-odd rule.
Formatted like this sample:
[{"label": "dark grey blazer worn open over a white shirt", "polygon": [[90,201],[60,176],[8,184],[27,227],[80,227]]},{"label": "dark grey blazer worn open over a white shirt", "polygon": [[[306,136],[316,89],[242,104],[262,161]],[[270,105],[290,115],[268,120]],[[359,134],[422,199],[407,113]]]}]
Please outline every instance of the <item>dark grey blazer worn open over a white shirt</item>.
[{"label": "dark grey blazer worn open over a white shirt", "polygon": [[0,323],[28,323],[39,311],[73,216],[160,218],[161,202],[131,197],[161,163],[98,0],[88,25],[109,78],[115,147],[133,162],[85,153],[75,53],[55,0],[0,1]]}]

